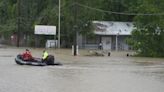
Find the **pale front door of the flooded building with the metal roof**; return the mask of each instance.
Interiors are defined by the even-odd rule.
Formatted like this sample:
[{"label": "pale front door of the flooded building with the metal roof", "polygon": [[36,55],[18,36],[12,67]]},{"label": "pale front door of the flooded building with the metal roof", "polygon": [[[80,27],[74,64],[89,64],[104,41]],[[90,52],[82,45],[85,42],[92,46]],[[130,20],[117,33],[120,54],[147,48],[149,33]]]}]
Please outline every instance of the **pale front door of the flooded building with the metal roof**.
[{"label": "pale front door of the flooded building with the metal roof", "polygon": [[102,37],[103,50],[111,50],[112,40],[111,37]]}]

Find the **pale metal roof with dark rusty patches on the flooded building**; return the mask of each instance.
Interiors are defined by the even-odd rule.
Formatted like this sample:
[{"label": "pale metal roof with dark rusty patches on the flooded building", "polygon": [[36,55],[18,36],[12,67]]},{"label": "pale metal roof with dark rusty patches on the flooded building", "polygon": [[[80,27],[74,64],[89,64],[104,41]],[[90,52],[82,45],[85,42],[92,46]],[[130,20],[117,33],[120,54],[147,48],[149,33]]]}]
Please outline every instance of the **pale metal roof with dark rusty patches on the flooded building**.
[{"label": "pale metal roof with dark rusty patches on the flooded building", "polygon": [[93,21],[97,35],[131,35],[134,29],[132,22]]}]

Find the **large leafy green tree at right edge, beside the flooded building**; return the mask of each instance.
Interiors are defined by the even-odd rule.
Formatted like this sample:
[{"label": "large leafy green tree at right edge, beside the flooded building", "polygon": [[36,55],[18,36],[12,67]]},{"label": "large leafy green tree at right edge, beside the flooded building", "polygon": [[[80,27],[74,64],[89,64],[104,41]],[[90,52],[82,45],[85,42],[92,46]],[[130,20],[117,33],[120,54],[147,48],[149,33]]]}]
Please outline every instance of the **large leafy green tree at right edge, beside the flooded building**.
[{"label": "large leafy green tree at right edge, beside the flooded building", "polygon": [[138,13],[155,15],[138,15],[134,18],[136,29],[129,40],[139,55],[151,57],[164,56],[164,9],[163,0],[144,0],[137,7]]}]

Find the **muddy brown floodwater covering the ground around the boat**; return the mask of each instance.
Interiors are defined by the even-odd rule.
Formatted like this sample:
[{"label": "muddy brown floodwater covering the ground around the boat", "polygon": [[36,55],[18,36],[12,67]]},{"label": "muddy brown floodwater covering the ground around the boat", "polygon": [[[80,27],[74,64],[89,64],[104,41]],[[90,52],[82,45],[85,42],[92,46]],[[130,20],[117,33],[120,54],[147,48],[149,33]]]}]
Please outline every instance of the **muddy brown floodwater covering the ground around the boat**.
[{"label": "muddy brown floodwater covering the ground around the boat", "polygon": [[[43,49],[31,49],[41,57]],[[49,49],[63,66],[20,66],[14,61],[24,48],[0,49],[0,92],[164,92],[164,59],[72,56],[68,49]]]}]

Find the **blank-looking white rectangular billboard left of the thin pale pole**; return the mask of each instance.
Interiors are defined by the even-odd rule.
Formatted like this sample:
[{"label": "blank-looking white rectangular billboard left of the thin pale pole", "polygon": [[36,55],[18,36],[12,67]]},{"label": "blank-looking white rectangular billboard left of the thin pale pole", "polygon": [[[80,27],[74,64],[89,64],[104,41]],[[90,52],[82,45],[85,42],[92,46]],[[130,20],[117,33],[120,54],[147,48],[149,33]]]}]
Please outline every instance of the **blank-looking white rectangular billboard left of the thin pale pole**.
[{"label": "blank-looking white rectangular billboard left of the thin pale pole", "polygon": [[38,34],[38,35],[56,35],[56,26],[35,25],[34,34]]}]

